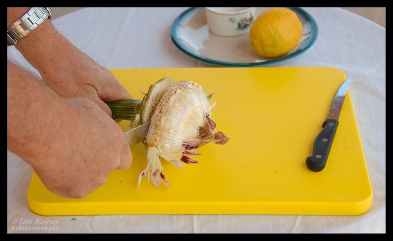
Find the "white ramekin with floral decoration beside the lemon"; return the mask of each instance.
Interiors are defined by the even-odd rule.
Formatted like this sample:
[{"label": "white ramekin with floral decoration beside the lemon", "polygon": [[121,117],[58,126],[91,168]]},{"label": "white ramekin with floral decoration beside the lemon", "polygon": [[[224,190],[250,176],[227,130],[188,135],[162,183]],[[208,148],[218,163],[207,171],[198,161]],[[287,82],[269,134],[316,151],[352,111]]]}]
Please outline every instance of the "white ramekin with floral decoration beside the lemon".
[{"label": "white ramekin with floral decoration beside the lemon", "polygon": [[206,7],[209,30],[221,36],[238,36],[250,31],[254,7]]}]

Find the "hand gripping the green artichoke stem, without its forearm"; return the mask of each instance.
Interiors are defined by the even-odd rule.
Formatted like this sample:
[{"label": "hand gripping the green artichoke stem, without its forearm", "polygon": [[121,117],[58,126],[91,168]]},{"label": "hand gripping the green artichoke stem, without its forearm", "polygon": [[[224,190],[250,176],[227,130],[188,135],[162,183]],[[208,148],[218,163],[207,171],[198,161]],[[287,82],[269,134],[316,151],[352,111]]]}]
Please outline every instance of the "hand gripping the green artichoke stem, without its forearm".
[{"label": "hand gripping the green artichoke stem, without its forearm", "polygon": [[38,69],[44,82],[59,96],[90,99],[109,116],[112,111],[104,101],[132,98],[108,69],[70,42],[65,41],[61,49],[52,55],[50,65],[42,62]]}]

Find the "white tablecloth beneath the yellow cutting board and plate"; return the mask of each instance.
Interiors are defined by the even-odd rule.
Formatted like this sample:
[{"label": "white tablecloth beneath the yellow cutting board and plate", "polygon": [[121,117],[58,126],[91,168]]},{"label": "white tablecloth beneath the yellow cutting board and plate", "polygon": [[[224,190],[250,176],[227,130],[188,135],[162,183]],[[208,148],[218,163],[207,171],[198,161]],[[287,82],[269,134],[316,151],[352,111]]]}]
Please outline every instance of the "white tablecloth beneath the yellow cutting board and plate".
[{"label": "white tablecloth beneath the yellow cutting board and plate", "polygon": [[[184,10],[185,8],[84,8],[55,19],[53,24],[78,48],[107,68],[211,67],[185,55],[170,40],[171,24]],[[8,151],[8,232],[24,232],[15,231],[15,228],[28,224],[29,220],[33,223],[38,220],[57,224],[47,225],[48,231],[28,232],[385,233],[386,29],[340,8],[305,10],[318,24],[318,39],[304,54],[277,66],[330,66],[352,76],[351,96],[374,193],[371,209],[367,213],[353,217],[38,216],[30,211],[26,198],[32,169]],[[8,48],[8,59],[38,75],[14,47]]]}]

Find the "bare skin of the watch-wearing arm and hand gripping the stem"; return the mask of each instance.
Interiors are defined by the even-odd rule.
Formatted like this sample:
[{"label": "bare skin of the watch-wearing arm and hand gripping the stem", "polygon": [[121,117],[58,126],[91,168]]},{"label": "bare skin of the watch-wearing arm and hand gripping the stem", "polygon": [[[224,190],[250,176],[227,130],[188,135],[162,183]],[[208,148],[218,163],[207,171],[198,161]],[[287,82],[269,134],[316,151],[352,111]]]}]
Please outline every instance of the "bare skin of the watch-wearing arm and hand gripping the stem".
[{"label": "bare skin of the watch-wearing arm and hand gripping the stem", "polygon": [[[27,10],[8,8],[7,23],[13,23]],[[104,101],[132,98],[109,70],[76,48],[50,20],[21,39],[15,48],[59,96],[90,99],[110,116],[111,109]]]}]

